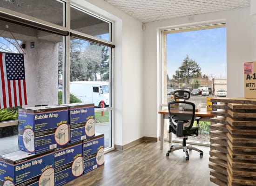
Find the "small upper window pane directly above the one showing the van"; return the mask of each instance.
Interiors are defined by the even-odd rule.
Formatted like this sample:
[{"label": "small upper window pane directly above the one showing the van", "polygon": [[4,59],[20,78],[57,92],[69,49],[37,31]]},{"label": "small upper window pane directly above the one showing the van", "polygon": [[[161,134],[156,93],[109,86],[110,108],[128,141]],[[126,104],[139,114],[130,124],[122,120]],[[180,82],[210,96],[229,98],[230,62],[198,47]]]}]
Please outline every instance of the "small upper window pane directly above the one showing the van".
[{"label": "small upper window pane directly above the one showing the van", "polygon": [[109,34],[111,23],[75,7],[71,7],[70,14],[70,28],[72,30],[111,41]]}]

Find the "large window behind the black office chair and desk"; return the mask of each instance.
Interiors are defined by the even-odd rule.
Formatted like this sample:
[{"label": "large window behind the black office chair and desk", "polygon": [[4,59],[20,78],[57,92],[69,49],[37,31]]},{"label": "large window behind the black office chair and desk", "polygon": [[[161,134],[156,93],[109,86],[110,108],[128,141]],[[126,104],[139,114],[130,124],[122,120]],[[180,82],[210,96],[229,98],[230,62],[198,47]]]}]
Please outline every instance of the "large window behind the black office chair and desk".
[{"label": "large window behind the black office chair and desk", "polygon": [[[187,90],[193,93],[189,101],[207,110],[207,97],[216,96],[216,79],[226,82],[225,24],[162,31],[162,109],[175,90]],[[200,135],[193,140],[208,144],[209,124],[201,121]]]}]

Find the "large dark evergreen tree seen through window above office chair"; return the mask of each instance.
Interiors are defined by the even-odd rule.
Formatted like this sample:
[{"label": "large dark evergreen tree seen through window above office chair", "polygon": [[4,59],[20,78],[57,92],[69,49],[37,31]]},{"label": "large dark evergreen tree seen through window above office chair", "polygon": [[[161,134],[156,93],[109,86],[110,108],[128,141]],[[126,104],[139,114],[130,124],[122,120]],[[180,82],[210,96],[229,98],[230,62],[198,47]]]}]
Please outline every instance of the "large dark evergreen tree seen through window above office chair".
[{"label": "large dark evergreen tree seen through window above office chair", "polygon": [[175,71],[173,78],[180,82],[189,83],[189,80],[196,77],[201,77],[201,68],[195,60],[189,59],[189,55],[185,57],[182,62],[182,66]]}]

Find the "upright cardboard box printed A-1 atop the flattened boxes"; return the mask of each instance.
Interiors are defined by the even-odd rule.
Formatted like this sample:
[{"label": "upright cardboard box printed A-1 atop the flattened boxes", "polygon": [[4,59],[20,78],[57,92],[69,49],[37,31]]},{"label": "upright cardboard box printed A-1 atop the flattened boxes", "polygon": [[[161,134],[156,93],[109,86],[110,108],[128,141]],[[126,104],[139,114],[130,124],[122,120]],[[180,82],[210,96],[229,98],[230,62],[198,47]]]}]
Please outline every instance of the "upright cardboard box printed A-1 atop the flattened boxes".
[{"label": "upright cardboard box printed A-1 atop the flattened boxes", "polygon": [[256,61],[244,63],[243,69],[244,98],[256,99]]}]

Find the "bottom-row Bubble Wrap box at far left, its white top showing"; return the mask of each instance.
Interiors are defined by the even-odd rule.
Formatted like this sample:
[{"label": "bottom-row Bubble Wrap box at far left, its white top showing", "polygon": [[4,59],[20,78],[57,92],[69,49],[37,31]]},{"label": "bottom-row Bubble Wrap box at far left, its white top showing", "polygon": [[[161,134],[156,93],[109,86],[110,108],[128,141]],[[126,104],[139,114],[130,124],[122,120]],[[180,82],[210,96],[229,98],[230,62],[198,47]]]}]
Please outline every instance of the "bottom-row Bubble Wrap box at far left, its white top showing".
[{"label": "bottom-row Bubble Wrap box at far left, its white top showing", "polygon": [[0,186],[54,186],[53,151],[16,151],[0,156]]}]

